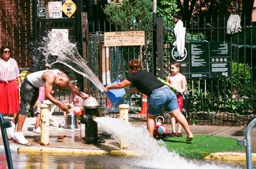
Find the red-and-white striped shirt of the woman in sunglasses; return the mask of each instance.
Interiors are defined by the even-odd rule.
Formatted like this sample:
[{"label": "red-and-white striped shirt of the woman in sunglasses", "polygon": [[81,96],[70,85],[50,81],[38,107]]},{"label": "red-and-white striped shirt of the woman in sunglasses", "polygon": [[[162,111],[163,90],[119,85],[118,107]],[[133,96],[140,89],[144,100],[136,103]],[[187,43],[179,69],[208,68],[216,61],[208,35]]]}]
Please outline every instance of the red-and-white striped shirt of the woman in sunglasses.
[{"label": "red-and-white striped shirt of the woman in sunglasses", "polygon": [[0,59],[0,81],[8,82],[15,80],[17,77],[20,77],[17,62],[11,57],[7,62]]}]

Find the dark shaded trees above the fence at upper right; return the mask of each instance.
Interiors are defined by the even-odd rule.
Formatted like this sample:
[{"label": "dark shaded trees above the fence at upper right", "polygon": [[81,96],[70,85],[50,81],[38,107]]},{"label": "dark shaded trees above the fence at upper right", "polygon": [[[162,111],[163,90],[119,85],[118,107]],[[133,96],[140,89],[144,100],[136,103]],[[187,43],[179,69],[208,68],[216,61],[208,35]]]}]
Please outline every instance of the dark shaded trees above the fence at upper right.
[{"label": "dark shaded trees above the fence at upper right", "polygon": [[[252,20],[254,0],[177,0],[179,15],[189,26],[191,18],[210,15],[228,16],[232,13],[241,15],[242,22],[246,18],[246,26]],[[222,19],[223,17],[220,17]],[[221,23],[221,22],[220,22]]]}]

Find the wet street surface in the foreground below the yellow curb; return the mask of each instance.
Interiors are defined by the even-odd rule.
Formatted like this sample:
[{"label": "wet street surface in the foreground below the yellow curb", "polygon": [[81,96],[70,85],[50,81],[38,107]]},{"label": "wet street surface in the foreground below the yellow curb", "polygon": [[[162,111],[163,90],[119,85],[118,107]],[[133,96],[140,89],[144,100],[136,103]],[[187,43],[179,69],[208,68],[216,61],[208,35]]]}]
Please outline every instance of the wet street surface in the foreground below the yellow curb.
[{"label": "wet street surface in the foreground below the yellow curb", "polygon": [[[145,166],[138,166],[140,158],[131,158],[127,156],[83,156],[83,155],[65,155],[65,154],[48,154],[48,153],[20,153],[12,152],[13,168],[41,168],[41,169],[75,169],[75,168],[97,168],[97,169],[144,169]],[[209,163],[211,161],[200,160],[198,163]],[[221,162],[223,163],[223,161]],[[225,163],[225,162],[224,162]],[[220,163],[218,163],[220,165]],[[227,165],[227,163],[225,163]],[[7,169],[7,162],[4,152],[0,153],[1,169]],[[246,168],[245,163],[232,163],[234,168]],[[151,169],[159,168],[150,167]],[[170,166],[170,168],[172,168]],[[175,168],[174,168],[175,169]]]}]

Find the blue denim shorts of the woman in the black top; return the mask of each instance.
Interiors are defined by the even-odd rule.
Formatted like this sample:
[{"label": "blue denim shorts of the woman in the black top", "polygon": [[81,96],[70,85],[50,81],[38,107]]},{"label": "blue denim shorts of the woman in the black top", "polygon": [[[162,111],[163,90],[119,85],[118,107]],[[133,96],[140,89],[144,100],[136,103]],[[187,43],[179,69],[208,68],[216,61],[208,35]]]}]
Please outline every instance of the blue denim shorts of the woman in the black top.
[{"label": "blue denim shorts of the woman in the black top", "polygon": [[159,115],[163,108],[168,112],[179,109],[176,94],[167,86],[152,91],[148,99],[148,115]]}]

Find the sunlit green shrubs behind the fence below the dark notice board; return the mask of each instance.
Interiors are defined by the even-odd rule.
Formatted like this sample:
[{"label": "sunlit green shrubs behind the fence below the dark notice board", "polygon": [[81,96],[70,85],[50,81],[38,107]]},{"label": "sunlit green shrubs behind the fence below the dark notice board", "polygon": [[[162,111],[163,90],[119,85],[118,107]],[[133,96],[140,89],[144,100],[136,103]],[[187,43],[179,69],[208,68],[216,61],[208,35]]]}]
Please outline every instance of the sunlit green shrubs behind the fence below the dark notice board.
[{"label": "sunlit green shrubs behind the fence below the dark notice board", "polygon": [[[220,79],[188,79],[191,111],[227,111],[244,114],[253,110],[256,85],[247,64],[232,62],[232,75]],[[255,107],[255,106],[254,106]]]}]

